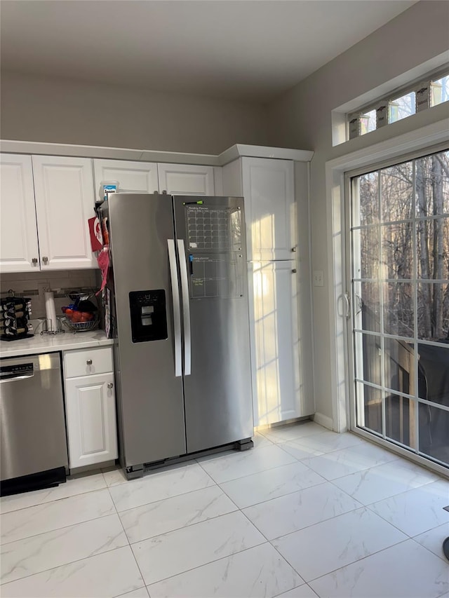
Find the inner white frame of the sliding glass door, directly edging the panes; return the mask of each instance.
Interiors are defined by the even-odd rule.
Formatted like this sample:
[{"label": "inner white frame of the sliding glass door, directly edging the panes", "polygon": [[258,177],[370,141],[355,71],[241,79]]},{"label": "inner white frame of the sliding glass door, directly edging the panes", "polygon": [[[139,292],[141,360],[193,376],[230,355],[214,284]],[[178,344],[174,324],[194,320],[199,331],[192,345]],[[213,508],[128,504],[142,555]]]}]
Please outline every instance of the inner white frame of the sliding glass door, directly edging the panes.
[{"label": "inner white frame of the sliding glass door, directly edging the panes", "polygon": [[[412,461],[416,463],[426,466],[432,470],[436,470],[438,473],[443,473],[443,475],[449,476],[448,468],[445,466],[441,466],[439,463],[431,461],[430,458],[422,456],[418,453],[418,440],[417,435],[419,433],[419,405],[420,402],[418,400],[411,401],[410,400],[410,409],[412,409],[413,404],[413,418],[414,418],[414,430],[415,430],[415,437],[412,439],[412,430],[410,426],[410,447],[405,448],[406,444],[396,444],[395,442],[391,442],[388,440],[386,435],[386,422],[385,422],[385,397],[384,397],[384,381],[382,381],[382,434],[378,434],[375,432],[370,432],[368,430],[364,430],[363,428],[359,428],[357,426],[357,401],[360,402],[361,397],[357,397],[356,387],[361,385],[360,382],[356,380],[356,339],[354,336],[354,311],[357,306],[354,305],[354,297],[355,293],[353,292],[353,236],[351,235],[351,226],[353,226],[353,218],[354,218],[354,205],[352,203],[352,194],[354,189],[353,179],[354,177],[358,177],[369,172],[376,172],[382,170],[382,168],[388,168],[393,165],[398,165],[406,161],[411,161],[417,158],[421,158],[427,156],[429,154],[437,153],[438,151],[448,150],[449,142],[442,142],[438,144],[429,145],[428,147],[422,147],[420,149],[415,149],[414,151],[406,151],[404,154],[396,155],[394,157],[384,159],[382,161],[377,161],[373,163],[367,163],[362,167],[355,168],[354,170],[346,170],[344,172],[344,201],[342,202],[342,221],[344,222],[344,272],[346,276],[345,280],[345,295],[347,297],[347,301],[349,304],[349,309],[346,315],[346,326],[345,326],[345,346],[347,351],[347,391],[349,397],[349,429],[367,439],[371,440],[372,442],[376,442],[377,444],[381,444],[382,446],[394,451],[401,456],[406,456],[410,458]],[[380,191],[378,191],[380,193]],[[381,287],[382,288],[382,287]],[[415,314],[416,318],[416,314]],[[382,338],[383,338],[382,332]],[[360,343],[358,343],[360,344]],[[358,351],[362,351],[361,346],[358,347]],[[417,370],[414,373],[414,386],[417,388]],[[411,396],[411,395],[410,395]],[[364,407],[364,404],[363,404]],[[412,446],[413,444],[413,446]]]}]

